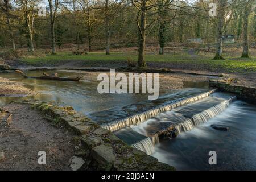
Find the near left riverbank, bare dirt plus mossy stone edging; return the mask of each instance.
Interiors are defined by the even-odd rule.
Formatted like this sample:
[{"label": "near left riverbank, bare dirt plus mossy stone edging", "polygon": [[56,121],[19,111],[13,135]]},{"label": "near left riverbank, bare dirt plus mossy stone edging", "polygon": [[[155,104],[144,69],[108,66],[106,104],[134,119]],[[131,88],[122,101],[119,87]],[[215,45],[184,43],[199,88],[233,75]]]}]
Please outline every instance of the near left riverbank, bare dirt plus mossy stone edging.
[{"label": "near left riverbank, bare dirt plus mossy stone edging", "polygon": [[[175,169],[127,145],[69,106],[11,102],[0,115],[0,170]],[[38,164],[39,151],[46,152],[46,165]]]}]

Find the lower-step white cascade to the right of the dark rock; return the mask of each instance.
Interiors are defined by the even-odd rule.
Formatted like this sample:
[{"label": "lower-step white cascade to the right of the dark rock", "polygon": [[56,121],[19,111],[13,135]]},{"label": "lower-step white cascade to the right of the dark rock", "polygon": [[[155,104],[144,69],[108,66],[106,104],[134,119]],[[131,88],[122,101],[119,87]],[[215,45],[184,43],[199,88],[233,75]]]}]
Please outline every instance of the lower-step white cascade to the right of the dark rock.
[{"label": "lower-step white cascade to the right of the dark rock", "polygon": [[192,118],[188,118],[184,122],[176,123],[177,125],[175,125],[175,128],[179,133],[184,131],[190,131],[194,127],[201,125],[209,121],[209,119],[212,119],[218,114],[222,113],[234,100],[236,100],[236,96],[233,96],[228,100],[222,101],[220,104],[211,107],[210,109],[204,110],[199,114],[193,115]]}]

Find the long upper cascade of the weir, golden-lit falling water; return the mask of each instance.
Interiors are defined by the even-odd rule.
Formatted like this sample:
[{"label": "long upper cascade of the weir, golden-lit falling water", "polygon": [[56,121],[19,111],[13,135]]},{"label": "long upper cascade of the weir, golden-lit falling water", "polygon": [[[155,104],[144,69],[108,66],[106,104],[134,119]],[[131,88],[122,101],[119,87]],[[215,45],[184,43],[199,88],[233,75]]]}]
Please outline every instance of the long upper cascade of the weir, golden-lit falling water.
[{"label": "long upper cascade of the weir, golden-lit falling water", "polygon": [[174,109],[176,107],[179,107],[179,106],[182,106],[185,104],[189,104],[191,102],[195,102],[195,101],[201,100],[205,97],[208,97],[208,96],[210,96],[210,94],[214,93],[216,90],[217,89],[212,89],[212,90],[209,90],[208,92],[199,94],[197,96],[184,98],[182,100],[177,100],[175,102],[172,102],[171,104],[158,106],[158,107],[155,107],[154,109],[150,109],[150,110],[144,111],[139,114],[134,114],[129,117],[118,119],[113,122],[104,123],[101,125],[101,127],[108,129],[110,131],[117,131],[117,130],[120,130],[127,126],[138,125],[139,123],[142,123],[142,122],[146,121],[147,119],[155,117],[156,115],[159,115],[160,113],[163,113],[165,111]]}]

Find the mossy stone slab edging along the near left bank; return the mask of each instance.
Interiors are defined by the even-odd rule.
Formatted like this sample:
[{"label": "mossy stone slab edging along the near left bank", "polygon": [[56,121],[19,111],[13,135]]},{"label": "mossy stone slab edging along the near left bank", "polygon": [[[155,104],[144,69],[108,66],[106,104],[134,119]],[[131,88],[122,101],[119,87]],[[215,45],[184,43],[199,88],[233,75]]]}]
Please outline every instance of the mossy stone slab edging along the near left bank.
[{"label": "mossy stone slab edging along the near left bank", "polygon": [[77,133],[81,143],[81,154],[88,166],[97,170],[144,170],[173,171],[174,167],[158,162],[123,142],[109,130],[103,129],[71,106],[59,107],[38,101],[22,101],[39,110],[54,124],[67,126]]}]

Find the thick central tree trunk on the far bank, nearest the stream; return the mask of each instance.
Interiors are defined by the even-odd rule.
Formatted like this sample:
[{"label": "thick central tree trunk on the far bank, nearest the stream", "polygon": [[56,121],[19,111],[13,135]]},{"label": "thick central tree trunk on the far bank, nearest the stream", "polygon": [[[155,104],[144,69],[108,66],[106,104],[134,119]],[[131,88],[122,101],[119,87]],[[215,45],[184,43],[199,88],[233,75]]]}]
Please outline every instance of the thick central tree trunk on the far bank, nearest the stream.
[{"label": "thick central tree trunk on the far bank, nearest the stream", "polygon": [[147,67],[146,60],[145,60],[145,49],[146,49],[146,0],[142,0],[142,3],[141,3],[141,22],[138,23],[138,27],[139,27],[138,66],[139,67]]}]

